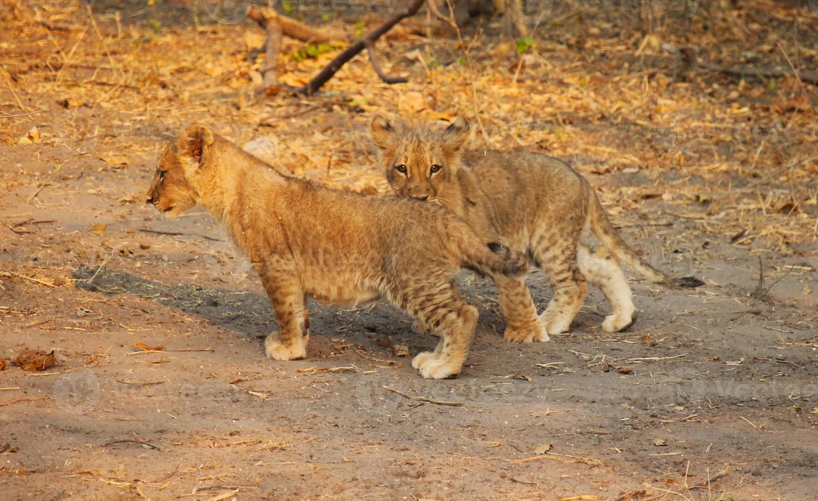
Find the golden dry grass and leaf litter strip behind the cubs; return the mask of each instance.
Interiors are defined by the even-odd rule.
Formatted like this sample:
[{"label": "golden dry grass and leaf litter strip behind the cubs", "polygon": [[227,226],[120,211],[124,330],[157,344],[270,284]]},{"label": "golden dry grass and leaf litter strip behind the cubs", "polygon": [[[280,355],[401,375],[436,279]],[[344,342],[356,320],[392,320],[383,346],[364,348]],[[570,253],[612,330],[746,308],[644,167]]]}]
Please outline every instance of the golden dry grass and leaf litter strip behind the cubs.
[{"label": "golden dry grass and leaf litter strip behind the cubs", "polygon": [[[10,116],[0,122],[7,144],[26,142],[20,131],[51,117],[53,126],[35,125],[29,141],[79,158],[96,145],[99,158],[118,169],[133,166],[137,152],[155,155],[182,125],[202,121],[238,142],[270,137],[277,149],[271,159],[283,169],[386,192],[367,137],[375,112],[425,120],[467,115],[483,125],[481,146],[527,147],[572,161],[600,185],[614,216],[642,212],[692,223],[698,231],[690,237],[743,232],[737,245],[762,239],[762,246],[786,254],[815,251],[816,89],[796,79],[774,85],[703,74],[662,50],[665,42],[693,44],[720,49],[721,55],[703,52],[711,61],[749,58],[759,67],[784,67],[789,58],[808,67],[818,59],[818,16],[806,9],[723,3],[712,14],[698,11],[689,24],[654,13],[648,36],[631,12],[555,15],[564,20],[540,25],[524,56],[487,34],[498,26],[483,26],[482,33],[471,26],[461,38],[468,64],[452,33],[405,34],[380,50],[394,66],[385,70],[410,74],[410,83],[380,83],[359,56],[321,96],[259,100],[252,91],[263,65],[263,33],[250,23],[194,26],[191,14],[173,3],[136,14],[97,4],[93,16],[83,2],[38,9],[7,4],[0,55],[0,80],[11,91],[2,103]],[[163,21],[168,12],[174,16]],[[134,15],[142,22],[128,24]],[[762,16],[770,22],[760,23]],[[706,24],[715,30],[703,29]],[[284,49],[293,54],[302,46],[288,39]],[[333,55],[285,57],[280,79],[302,83]],[[51,107],[56,110],[39,113]],[[616,171],[628,174],[627,181],[609,182],[605,174]],[[14,180],[3,182],[8,187]]]}]

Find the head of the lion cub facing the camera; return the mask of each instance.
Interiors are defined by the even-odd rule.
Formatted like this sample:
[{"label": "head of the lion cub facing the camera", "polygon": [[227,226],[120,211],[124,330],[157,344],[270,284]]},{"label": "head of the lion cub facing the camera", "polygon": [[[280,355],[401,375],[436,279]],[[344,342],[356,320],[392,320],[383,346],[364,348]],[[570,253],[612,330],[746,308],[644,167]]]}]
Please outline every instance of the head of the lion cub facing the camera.
[{"label": "head of the lion cub facing the camera", "polygon": [[443,130],[398,127],[380,115],[371,125],[372,140],[384,148],[383,163],[392,189],[420,200],[443,196],[461,168],[461,147],[470,133],[468,120],[461,117]]}]

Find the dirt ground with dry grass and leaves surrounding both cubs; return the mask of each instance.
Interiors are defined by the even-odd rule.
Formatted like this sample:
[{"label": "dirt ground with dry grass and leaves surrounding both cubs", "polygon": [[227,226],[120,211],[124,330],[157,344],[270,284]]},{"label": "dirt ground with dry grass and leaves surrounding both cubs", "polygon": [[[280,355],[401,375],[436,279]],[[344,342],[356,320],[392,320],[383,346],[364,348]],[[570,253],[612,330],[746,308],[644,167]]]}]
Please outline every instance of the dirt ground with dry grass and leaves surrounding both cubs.
[{"label": "dirt ground with dry grass and leaves surrounding both cubs", "polygon": [[[818,498],[818,163],[793,165],[818,150],[816,88],[679,68],[656,45],[816,67],[816,12],[741,3],[693,18],[709,32],[668,16],[644,38],[632,13],[557,12],[525,56],[501,21],[465,26],[470,61],[451,31],[405,31],[380,49],[409,83],[359,56],[320,96],[256,98],[249,23],[186,2],[89,16],[7,0],[0,359],[57,364],[0,372],[0,498]],[[285,43],[291,83],[334,55]],[[497,291],[464,272],[481,318],[454,380],[420,378],[402,346],[436,340],[380,303],[312,303],[308,359],[266,359],[275,320],[222,230],[144,203],[159,152],[200,121],[264,138],[295,174],[385,194],[375,113],[465,114],[479,144],[572,162],[649,262],[706,285],[635,280],[639,320],[618,334],[593,290],[570,334],[513,345]],[[544,308],[542,272],[529,283]]]}]

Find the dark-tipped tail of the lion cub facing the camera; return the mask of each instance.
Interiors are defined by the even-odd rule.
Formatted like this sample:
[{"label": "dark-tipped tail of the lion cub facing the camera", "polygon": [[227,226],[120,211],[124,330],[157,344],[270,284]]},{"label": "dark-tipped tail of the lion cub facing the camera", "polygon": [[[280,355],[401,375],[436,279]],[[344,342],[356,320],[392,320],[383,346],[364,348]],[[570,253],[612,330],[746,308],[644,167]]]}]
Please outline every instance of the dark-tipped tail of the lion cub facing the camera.
[{"label": "dark-tipped tail of the lion cub facing the camera", "polygon": [[588,217],[591,220],[591,228],[593,228],[596,237],[598,237],[619,260],[622,260],[630,269],[638,273],[641,278],[644,278],[648,282],[663,283],[677,287],[699,287],[704,285],[704,282],[695,277],[671,277],[655,269],[650,264],[647,264],[645,260],[642,260],[642,258],[636,255],[636,252],[631,249],[631,246],[628,246],[627,243],[622,240],[622,237],[619,236],[616,229],[613,228],[608,219],[608,215],[605,214],[605,209],[602,208],[602,204],[600,204],[600,200],[593,192],[591,185],[587,184],[586,188],[588,191]]}]

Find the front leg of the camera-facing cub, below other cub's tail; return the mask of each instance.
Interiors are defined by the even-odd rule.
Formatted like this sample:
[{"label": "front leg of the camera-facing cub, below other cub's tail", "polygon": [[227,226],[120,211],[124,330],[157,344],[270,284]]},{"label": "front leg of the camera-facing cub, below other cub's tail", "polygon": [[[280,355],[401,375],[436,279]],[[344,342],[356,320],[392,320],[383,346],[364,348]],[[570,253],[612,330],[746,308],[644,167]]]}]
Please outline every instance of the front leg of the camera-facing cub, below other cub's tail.
[{"label": "front leg of the camera-facing cub, below other cub's tail", "polygon": [[506,318],[504,339],[513,343],[549,341],[546,326],[537,317],[537,307],[524,278],[498,277],[500,308]]}]

